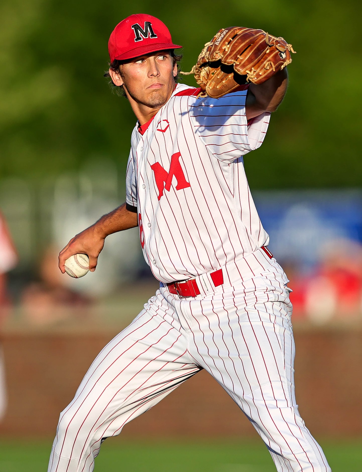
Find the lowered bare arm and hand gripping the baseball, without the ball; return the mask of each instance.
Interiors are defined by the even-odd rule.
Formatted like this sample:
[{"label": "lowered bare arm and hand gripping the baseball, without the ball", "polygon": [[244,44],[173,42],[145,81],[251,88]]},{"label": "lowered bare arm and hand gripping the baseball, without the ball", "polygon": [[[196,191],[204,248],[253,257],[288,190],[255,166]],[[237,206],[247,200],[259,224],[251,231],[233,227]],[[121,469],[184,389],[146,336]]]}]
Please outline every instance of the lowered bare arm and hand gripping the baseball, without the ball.
[{"label": "lowered bare arm and hand gripping the baseball, without the ball", "polygon": [[103,215],[94,225],[84,229],[72,238],[59,253],[59,269],[64,274],[64,263],[74,254],[87,254],[90,271],[94,272],[104,240],[110,234],[137,226],[137,213],[129,211],[126,203]]}]

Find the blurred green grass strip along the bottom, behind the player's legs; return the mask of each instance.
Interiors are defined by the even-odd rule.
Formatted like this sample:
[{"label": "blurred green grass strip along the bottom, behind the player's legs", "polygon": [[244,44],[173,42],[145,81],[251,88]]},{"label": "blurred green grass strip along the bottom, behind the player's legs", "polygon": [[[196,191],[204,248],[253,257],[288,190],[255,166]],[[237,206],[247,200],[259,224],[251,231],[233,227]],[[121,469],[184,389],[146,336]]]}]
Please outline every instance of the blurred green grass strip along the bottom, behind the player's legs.
[{"label": "blurred green grass strip along the bottom, behind the player's legs", "polygon": [[[123,436],[124,434],[124,436]],[[149,442],[127,440],[127,431],[108,438],[95,461],[95,471],[119,472],[275,472],[261,439],[170,439]],[[192,435],[192,432],[190,432]],[[256,437],[256,433],[255,433]],[[361,470],[361,440],[323,441],[321,446],[333,472]],[[0,442],[0,472],[45,471],[50,441]]]}]

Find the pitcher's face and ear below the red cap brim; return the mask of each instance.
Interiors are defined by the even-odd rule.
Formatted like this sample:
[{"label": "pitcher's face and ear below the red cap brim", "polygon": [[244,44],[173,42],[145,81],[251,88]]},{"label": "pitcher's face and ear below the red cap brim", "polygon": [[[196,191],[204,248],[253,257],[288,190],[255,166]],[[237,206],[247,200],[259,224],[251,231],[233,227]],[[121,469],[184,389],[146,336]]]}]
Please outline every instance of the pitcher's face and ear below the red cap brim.
[{"label": "pitcher's face and ear below the red cap brim", "polygon": [[170,51],[157,51],[127,61],[121,66],[122,76],[111,72],[113,82],[123,85],[131,101],[159,108],[173,93],[177,65],[173,65]]}]

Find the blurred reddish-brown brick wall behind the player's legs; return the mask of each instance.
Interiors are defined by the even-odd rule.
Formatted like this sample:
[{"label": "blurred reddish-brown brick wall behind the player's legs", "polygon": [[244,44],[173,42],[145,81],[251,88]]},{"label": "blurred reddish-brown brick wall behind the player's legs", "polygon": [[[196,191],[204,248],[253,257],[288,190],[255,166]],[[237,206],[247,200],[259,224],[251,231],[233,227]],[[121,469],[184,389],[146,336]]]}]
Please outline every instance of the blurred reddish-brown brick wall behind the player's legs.
[{"label": "blurred reddish-brown brick wall behind the player's legs", "polygon": [[[7,334],[8,411],[0,436],[55,433],[99,350],[115,333]],[[314,435],[362,436],[362,330],[297,330],[296,398]],[[246,417],[205,371],[126,425],[128,436],[256,436]]]}]

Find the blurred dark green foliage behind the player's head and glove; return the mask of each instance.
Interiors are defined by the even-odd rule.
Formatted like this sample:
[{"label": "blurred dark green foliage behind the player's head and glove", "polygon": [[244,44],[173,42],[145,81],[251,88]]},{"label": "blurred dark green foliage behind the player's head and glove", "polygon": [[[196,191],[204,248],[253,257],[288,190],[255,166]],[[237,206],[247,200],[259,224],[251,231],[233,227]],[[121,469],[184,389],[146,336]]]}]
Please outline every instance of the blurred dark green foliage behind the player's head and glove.
[{"label": "blurred dark green foliage behind the player's head and glove", "polygon": [[361,185],[359,0],[2,0],[1,176],[57,175],[103,156],[124,168],[135,118],[102,75],[109,34],[139,12],[162,19],[184,46],[183,70],[221,27],[285,37],[297,51],[288,94],[246,158],[251,186]]}]

